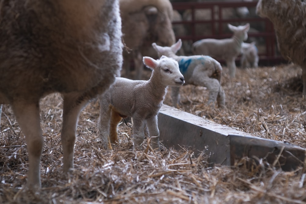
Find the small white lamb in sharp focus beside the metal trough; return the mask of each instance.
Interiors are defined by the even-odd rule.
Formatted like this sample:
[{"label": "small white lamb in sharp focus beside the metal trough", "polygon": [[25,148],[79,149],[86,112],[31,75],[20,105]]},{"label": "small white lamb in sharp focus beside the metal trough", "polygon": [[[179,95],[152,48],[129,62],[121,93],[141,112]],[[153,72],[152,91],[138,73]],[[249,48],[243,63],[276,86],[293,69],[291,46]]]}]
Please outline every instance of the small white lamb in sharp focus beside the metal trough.
[{"label": "small white lamb in sharp focus beside the metal trough", "polygon": [[143,57],[144,64],[152,69],[149,80],[130,80],[117,77],[114,84],[100,99],[99,134],[105,149],[119,143],[118,123],[121,118],[133,119],[134,150],[141,150],[144,141],[144,124],[147,123],[151,147],[159,150],[157,114],[162,106],[167,86],[179,87],[184,83],[178,63],[162,56],[159,60]]}]

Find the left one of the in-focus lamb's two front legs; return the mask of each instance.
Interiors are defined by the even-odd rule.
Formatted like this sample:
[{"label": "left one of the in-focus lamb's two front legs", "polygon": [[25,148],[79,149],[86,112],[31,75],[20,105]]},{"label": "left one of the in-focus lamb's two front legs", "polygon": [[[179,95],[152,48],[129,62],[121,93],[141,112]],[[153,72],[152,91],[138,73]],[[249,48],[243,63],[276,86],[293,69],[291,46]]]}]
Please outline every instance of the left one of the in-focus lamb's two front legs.
[{"label": "left one of the in-focus lamb's two front legs", "polygon": [[144,121],[133,117],[133,143],[134,150],[141,150],[144,142]]}]

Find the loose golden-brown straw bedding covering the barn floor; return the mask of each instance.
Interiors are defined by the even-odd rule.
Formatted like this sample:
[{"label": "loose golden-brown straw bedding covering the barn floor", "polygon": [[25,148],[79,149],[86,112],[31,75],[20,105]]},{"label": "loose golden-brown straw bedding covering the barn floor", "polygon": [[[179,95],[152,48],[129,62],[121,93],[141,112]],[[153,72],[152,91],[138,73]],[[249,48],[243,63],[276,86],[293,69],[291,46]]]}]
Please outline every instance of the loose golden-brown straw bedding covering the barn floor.
[{"label": "loose golden-brown straw bedding covering the barn floor", "polygon": [[[299,68],[238,69],[233,80],[227,71],[222,79],[226,109],[206,106],[207,90],[190,85],[181,88],[180,108],[243,132],[306,147],[306,103]],[[188,147],[154,152],[145,143],[143,151],[132,151],[132,129],[124,123],[119,127],[120,144],[105,151],[96,128],[98,102],[91,102],[81,113],[74,172],[65,180],[61,100],[54,94],[40,102],[45,143],[42,189],[36,194],[22,190],[28,164],[24,135],[10,106],[3,107],[0,203],[306,203],[303,168],[283,172],[271,165],[262,168],[264,164],[253,170],[243,165],[211,166],[205,152],[195,158]],[[169,95],[165,103],[171,105]]]}]

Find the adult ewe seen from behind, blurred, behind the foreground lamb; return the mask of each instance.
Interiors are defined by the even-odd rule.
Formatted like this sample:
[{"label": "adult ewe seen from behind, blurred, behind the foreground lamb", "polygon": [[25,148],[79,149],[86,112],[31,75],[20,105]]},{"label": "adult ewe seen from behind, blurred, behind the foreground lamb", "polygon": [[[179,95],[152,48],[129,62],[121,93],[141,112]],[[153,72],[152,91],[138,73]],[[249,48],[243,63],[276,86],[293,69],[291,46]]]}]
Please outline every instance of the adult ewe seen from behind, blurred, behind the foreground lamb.
[{"label": "adult ewe seen from behind, blurred, behind the foreground lamb", "polygon": [[130,61],[134,61],[136,79],[141,79],[143,56],[157,58],[151,44],[175,43],[172,29],[173,9],[169,0],[120,0],[124,51],[124,69],[129,77]]}]

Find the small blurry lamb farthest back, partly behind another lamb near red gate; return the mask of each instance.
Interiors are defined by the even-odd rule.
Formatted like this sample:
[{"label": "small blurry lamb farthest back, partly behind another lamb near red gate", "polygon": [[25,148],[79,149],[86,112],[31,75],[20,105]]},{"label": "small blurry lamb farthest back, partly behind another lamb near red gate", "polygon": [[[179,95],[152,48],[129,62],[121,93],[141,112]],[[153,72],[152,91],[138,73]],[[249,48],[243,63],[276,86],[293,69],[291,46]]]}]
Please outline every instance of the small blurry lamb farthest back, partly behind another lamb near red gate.
[{"label": "small blurry lamb farthest back, partly behind another lamb near red gate", "polygon": [[242,68],[246,67],[258,67],[258,49],[255,42],[252,43],[242,43],[241,44],[241,58],[240,64]]}]

